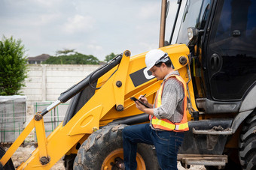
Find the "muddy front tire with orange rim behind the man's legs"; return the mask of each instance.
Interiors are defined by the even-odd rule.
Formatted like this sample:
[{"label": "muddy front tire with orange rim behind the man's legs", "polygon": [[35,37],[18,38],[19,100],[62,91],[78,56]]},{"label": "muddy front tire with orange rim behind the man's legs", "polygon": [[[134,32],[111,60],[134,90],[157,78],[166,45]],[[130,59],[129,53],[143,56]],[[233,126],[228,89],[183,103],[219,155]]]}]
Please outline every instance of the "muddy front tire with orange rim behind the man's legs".
[{"label": "muddy front tire with orange rim behind the man's legs", "polygon": [[[74,169],[118,169],[115,159],[123,159],[122,130],[126,125],[110,125],[91,134],[75,157]],[[155,151],[151,145],[139,144],[137,169],[158,170]]]}]

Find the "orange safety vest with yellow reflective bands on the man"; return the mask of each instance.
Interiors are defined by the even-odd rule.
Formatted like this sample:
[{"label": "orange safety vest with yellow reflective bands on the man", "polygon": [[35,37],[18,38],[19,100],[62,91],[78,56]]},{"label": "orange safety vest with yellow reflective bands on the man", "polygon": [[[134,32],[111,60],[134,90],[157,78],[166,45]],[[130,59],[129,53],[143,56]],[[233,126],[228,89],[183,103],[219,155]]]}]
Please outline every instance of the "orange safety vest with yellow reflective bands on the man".
[{"label": "orange safety vest with yellow reflective bands on the man", "polygon": [[[157,117],[150,115],[150,119],[151,120],[151,124],[155,129],[161,129],[161,130],[168,130],[168,131],[175,131],[175,132],[184,132],[188,130],[188,124],[187,124],[187,91],[186,91],[186,83],[184,82],[184,79],[181,78],[181,76],[178,75],[171,75],[169,77],[167,77],[167,79],[171,78],[171,77],[175,77],[176,79],[178,79],[178,81],[180,81],[183,85],[184,88],[184,103],[183,103],[183,118],[181,120],[181,122],[178,123],[174,123],[172,121],[169,121],[166,118],[161,118],[158,119]],[[166,79],[166,80],[167,80]],[[162,104],[162,94],[163,94],[163,86],[166,82],[166,80],[162,83],[162,85],[160,86],[159,90],[157,91],[157,97],[154,103],[154,108],[158,108],[161,106]]]}]

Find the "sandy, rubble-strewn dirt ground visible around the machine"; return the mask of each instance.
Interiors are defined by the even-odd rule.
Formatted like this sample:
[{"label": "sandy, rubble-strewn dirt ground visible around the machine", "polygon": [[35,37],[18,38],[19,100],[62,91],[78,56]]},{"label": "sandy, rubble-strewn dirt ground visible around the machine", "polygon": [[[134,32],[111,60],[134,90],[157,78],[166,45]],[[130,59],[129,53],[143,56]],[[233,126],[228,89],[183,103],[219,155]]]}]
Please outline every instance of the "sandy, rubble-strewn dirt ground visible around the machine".
[{"label": "sandy, rubble-strewn dirt ground visible around the machine", "polygon": [[[33,116],[33,107],[28,106],[27,109],[27,122],[31,121],[32,116]],[[21,163],[26,161],[32,151],[35,150],[35,136],[34,136],[34,131],[29,134],[29,136],[26,138],[24,142],[24,146],[20,147],[17,149],[17,151],[14,153],[13,157],[11,157],[14,167],[17,168],[20,166]],[[7,151],[8,148],[5,148],[5,151]],[[51,170],[62,170],[64,169],[63,161],[60,159],[52,168]],[[178,170],[184,170],[184,168],[181,166],[181,164],[178,162]],[[191,166],[190,170],[205,170],[204,166]]]}]

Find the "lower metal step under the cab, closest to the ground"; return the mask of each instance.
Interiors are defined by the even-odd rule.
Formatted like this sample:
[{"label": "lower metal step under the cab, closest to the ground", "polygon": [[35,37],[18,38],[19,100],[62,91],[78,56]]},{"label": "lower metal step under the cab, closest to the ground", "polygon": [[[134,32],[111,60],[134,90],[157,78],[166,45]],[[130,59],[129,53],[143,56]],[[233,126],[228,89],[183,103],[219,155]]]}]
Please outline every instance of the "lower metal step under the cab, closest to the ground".
[{"label": "lower metal step under the cab, closest to the ground", "polygon": [[189,166],[225,166],[227,163],[227,155],[178,155],[181,165],[187,169]]}]

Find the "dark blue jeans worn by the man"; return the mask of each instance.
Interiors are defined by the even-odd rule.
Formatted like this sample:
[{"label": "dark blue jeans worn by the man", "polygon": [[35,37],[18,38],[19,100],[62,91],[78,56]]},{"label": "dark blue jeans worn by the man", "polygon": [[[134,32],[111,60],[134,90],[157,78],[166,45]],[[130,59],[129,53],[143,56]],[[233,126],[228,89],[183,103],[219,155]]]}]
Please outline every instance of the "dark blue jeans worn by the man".
[{"label": "dark blue jeans worn by the man", "polygon": [[177,169],[178,148],[184,133],[152,130],[149,124],[137,124],[123,129],[123,161],[126,170],[136,170],[137,143],[154,145],[161,169]]}]

